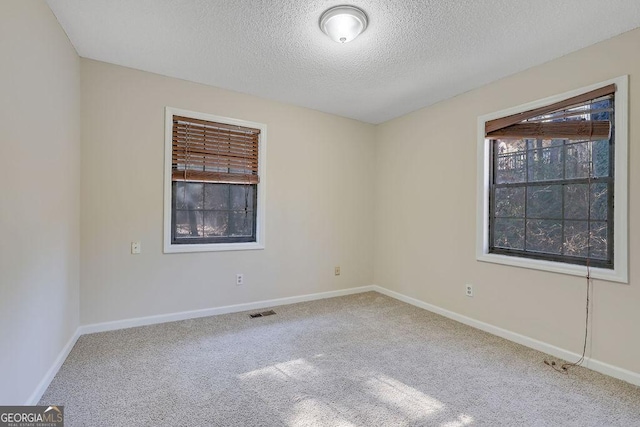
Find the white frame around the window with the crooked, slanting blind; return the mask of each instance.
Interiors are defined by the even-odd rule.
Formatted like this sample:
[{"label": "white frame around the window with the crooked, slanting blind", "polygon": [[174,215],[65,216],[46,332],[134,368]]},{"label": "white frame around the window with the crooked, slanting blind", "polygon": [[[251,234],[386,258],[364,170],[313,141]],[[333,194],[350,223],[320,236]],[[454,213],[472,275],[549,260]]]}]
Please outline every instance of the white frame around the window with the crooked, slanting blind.
[{"label": "white frame around the window with the crooked, slanting blind", "polygon": [[629,76],[621,76],[605,82],[576,89],[561,95],[540,99],[517,107],[478,117],[478,176],[476,214],[476,259],[483,262],[514,267],[544,270],[554,273],[586,276],[587,268],[563,262],[535,260],[489,253],[489,171],[491,167],[490,139],[485,138],[485,123],[524,111],[544,107],[595,89],[616,84],[615,92],[615,159],[614,159],[614,269],[590,268],[594,279],[629,283],[628,270],[628,145],[629,145]]}]

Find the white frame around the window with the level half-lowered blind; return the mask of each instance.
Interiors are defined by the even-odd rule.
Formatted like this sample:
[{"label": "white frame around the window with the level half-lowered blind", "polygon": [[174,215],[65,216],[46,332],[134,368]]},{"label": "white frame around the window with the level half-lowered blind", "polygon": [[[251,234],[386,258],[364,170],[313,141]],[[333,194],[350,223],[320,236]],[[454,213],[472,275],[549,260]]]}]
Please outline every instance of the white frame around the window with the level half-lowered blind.
[{"label": "white frame around the window with the level half-lowered blind", "polygon": [[[242,243],[194,243],[173,244],[171,242],[171,159],[172,159],[172,134],[173,116],[192,117],[194,119],[208,120],[235,126],[243,126],[260,129],[260,141],[258,144],[258,176],[260,183],[257,185],[257,210],[256,210],[256,241]],[[164,136],[164,253],[185,252],[216,252],[216,251],[245,251],[264,249],[265,247],[265,204],[266,204],[266,152],[267,152],[267,125],[263,123],[249,122],[246,120],[229,117],[215,116],[212,114],[198,113],[173,107],[165,107],[165,136]]]}]

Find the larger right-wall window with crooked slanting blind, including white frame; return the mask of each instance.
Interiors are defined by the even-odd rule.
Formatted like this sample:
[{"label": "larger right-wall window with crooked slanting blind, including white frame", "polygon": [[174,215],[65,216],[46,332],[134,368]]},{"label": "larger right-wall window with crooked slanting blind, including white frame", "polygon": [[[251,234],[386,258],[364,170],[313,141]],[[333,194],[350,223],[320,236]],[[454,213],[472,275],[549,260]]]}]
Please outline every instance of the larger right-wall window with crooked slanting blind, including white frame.
[{"label": "larger right-wall window with crooked slanting blind, including white frame", "polygon": [[626,282],[626,79],[514,110],[479,119],[478,259]]}]

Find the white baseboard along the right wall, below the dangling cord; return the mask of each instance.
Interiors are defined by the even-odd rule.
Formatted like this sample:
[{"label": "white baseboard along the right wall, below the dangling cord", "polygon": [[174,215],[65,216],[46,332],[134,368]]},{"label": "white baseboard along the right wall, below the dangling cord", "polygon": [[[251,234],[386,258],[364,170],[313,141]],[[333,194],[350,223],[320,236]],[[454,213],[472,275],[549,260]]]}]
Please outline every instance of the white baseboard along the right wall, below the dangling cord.
[{"label": "white baseboard along the right wall, below the dangling cord", "polygon": [[[538,341],[536,339],[533,339],[515,332],[511,332],[494,325],[490,325],[489,323],[484,323],[479,320],[475,320],[470,317],[463,316],[453,311],[445,310],[444,308],[435,306],[433,304],[428,304],[424,301],[420,301],[416,298],[408,297],[406,295],[383,288],[381,286],[373,285],[372,288],[374,291],[379,292],[383,295],[387,295],[399,301],[406,302],[407,304],[411,304],[416,307],[423,308],[432,313],[436,313],[441,316],[448,317],[449,319],[453,319],[457,322],[464,323],[465,325],[474,327],[476,329],[480,329],[481,331],[485,331],[490,334],[497,335],[509,341],[522,344],[526,347],[533,348],[534,350],[538,350],[543,353],[550,354],[551,356],[557,357],[558,359],[568,360],[568,361],[574,361],[574,360],[580,359],[579,354],[565,350],[563,348],[556,347],[554,345],[547,344],[545,342]],[[586,358],[582,366],[584,366],[585,368],[589,368],[593,371],[600,372],[601,374],[605,374],[610,377],[618,378],[622,381],[626,381],[628,383],[640,386],[640,374],[637,372],[632,372],[627,369],[619,368],[617,366],[613,366],[608,363],[604,363],[599,360],[595,360],[591,358]]]}]

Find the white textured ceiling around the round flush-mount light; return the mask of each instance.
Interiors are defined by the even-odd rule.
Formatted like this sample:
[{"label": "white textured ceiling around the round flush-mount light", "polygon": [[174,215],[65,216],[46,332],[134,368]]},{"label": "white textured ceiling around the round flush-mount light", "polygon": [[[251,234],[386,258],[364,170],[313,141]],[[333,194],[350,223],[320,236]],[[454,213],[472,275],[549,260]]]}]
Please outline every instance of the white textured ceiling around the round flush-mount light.
[{"label": "white textured ceiling around the round flush-mount light", "polygon": [[354,0],[369,27],[338,44],[340,0],[48,4],[82,57],[369,123],[640,27],[639,0]]}]

